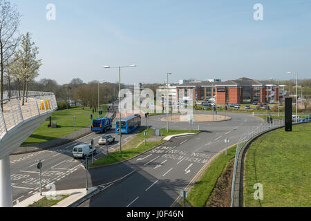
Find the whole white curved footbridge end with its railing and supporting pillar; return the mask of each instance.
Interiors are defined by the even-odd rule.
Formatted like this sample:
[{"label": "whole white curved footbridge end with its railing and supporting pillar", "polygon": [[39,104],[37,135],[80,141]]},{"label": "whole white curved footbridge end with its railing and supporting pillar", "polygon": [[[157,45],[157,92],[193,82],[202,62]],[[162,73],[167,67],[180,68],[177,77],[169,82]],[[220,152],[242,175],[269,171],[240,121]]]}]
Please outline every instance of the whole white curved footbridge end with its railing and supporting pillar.
[{"label": "whole white curved footbridge end with its railing and supporting pillar", "polygon": [[12,206],[10,153],[56,110],[53,93],[28,92],[27,97],[19,97],[19,91],[11,91],[10,98],[0,101],[0,207]]}]

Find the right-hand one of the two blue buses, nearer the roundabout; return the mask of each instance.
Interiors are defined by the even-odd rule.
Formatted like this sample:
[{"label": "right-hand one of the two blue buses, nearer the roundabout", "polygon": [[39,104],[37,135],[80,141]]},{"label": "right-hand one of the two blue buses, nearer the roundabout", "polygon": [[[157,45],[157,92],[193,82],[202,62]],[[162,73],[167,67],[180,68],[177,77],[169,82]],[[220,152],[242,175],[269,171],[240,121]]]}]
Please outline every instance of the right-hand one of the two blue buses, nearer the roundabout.
[{"label": "right-hand one of the two blue buses, nearer the roundabout", "polygon": [[[120,121],[115,122],[115,133],[120,131]],[[131,133],[140,127],[142,124],[142,117],[140,115],[131,115],[121,119],[121,133]]]}]

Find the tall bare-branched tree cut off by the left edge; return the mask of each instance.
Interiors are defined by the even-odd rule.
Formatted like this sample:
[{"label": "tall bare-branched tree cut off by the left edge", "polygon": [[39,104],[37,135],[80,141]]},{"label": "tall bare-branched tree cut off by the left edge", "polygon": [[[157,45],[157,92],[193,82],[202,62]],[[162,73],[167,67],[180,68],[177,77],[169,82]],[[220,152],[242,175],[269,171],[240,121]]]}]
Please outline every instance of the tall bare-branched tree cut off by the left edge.
[{"label": "tall bare-branched tree cut off by the left edge", "polygon": [[19,17],[20,15],[17,12],[16,6],[11,6],[10,1],[0,0],[0,99],[3,99],[3,73],[5,71],[5,64],[14,55],[20,41],[20,35],[17,33]]}]

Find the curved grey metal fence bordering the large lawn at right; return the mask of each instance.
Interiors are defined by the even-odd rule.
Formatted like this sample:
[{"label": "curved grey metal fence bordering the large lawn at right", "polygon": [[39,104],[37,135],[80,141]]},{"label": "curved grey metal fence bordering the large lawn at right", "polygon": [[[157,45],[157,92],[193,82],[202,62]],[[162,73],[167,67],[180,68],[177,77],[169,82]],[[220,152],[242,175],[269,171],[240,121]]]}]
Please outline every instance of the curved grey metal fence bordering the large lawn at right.
[{"label": "curved grey metal fence bordering the large lawn at right", "polygon": [[[299,120],[299,122],[310,121],[310,116],[305,116],[303,119],[304,120],[302,119]],[[252,130],[243,133],[243,135],[241,135],[241,137],[239,138],[238,144],[236,146],[236,156],[234,160],[234,174],[233,174],[232,190],[231,190],[231,207],[236,206],[236,204],[238,204],[236,203],[236,200],[239,198],[239,194],[240,194],[239,186],[237,186],[240,180],[236,180],[236,177],[237,177],[237,173],[240,173],[240,169],[241,169],[241,168],[238,169],[238,161],[241,160],[240,154],[243,154],[241,153],[241,150],[243,150],[245,144],[247,144],[247,142],[251,140],[253,137],[255,137],[256,135],[263,133],[265,131],[268,131],[272,128],[278,128],[281,126],[285,126],[285,121],[283,119],[279,119],[279,120],[276,119],[272,122],[263,122],[260,126],[257,126],[257,127],[254,126]]]}]

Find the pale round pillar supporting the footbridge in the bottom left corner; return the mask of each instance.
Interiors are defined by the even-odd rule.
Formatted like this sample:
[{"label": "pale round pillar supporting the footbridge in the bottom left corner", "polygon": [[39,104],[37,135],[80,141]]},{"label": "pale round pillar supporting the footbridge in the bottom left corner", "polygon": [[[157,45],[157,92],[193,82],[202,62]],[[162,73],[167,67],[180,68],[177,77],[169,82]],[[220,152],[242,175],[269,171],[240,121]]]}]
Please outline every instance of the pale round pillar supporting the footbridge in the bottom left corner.
[{"label": "pale round pillar supporting the footbridge in the bottom left corner", "polygon": [[0,160],[0,207],[12,207],[10,156]]}]

